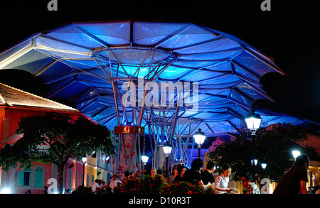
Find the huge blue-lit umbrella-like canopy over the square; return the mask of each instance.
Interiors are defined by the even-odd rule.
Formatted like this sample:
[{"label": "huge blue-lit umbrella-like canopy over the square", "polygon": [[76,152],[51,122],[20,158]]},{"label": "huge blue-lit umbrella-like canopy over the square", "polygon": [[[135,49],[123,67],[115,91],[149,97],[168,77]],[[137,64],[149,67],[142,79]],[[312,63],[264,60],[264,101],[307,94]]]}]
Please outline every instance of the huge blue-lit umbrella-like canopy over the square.
[{"label": "huge blue-lit umbrella-like canopy over the square", "polygon": [[[137,124],[143,110],[146,133],[148,124],[156,123],[149,120],[150,114],[171,124],[176,109],[124,109],[124,82],[137,82],[139,77],[156,83],[198,82],[198,110],[181,107],[176,128],[188,134],[184,124],[194,122],[206,136],[239,133],[257,99],[274,102],[262,89],[262,76],[285,75],[272,58],[233,35],[193,23],[146,21],[70,23],[36,33],[0,54],[0,70],[4,69],[41,77],[50,88],[48,99],[66,98],[111,130],[119,122]],[[271,111],[256,112],[262,125],[303,122]]]}]

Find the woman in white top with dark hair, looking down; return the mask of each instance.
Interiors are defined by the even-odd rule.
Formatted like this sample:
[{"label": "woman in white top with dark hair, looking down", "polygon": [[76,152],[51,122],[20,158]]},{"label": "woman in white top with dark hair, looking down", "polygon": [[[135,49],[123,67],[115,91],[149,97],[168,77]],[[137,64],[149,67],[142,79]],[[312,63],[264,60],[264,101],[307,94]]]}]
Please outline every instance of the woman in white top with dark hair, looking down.
[{"label": "woman in white top with dark hair, looking down", "polygon": [[234,188],[228,188],[229,176],[231,175],[231,166],[229,164],[223,165],[223,173],[215,177],[215,193],[226,194]]}]

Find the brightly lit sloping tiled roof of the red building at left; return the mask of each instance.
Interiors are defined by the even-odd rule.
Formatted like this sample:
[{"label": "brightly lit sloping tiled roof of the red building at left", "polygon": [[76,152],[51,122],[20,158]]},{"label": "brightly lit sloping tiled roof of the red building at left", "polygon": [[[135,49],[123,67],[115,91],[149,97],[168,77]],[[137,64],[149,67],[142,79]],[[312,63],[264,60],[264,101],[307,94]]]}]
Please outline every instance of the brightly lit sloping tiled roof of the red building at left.
[{"label": "brightly lit sloping tiled roof of the red building at left", "polygon": [[24,92],[21,89],[10,87],[0,83],[0,106],[16,106],[32,109],[53,109],[62,111],[80,112],[70,106],[53,102],[50,99],[39,97],[38,95]]}]

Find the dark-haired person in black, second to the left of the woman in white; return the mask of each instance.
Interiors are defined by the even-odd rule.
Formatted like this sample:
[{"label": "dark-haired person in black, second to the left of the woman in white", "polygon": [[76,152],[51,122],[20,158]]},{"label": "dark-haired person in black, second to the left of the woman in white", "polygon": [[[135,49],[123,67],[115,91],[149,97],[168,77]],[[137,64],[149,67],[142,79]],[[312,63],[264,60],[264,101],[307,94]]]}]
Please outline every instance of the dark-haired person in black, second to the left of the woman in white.
[{"label": "dark-haired person in black, second to the left of the woman in white", "polygon": [[191,182],[193,184],[198,183],[200,187],[203,189],[203,182],[201,174],[199,173],[200,168],[203,166],[203,161],[200,158],[193,160],[191,164],[191,169],[186,170],[183,175],[183,181]]}]

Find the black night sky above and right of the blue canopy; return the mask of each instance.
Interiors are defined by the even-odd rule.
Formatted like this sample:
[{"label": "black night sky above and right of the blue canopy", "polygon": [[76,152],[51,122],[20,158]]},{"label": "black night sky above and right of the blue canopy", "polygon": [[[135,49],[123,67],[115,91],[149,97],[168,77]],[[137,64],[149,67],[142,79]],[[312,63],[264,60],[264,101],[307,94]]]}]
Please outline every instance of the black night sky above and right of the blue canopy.
[{"label": "black night sky above and right of the blue canopy", "polygon": [[[310,1],[311,2],[311,1]],[[230,33],[270,56],[288,76],[261,80],[277,103],[258,102],[320,124],[320,9],[312,1],[65,1],[48,11],[49,0],[1,2],[0,50],[29,35],[79,21],[186,21]]]}]

